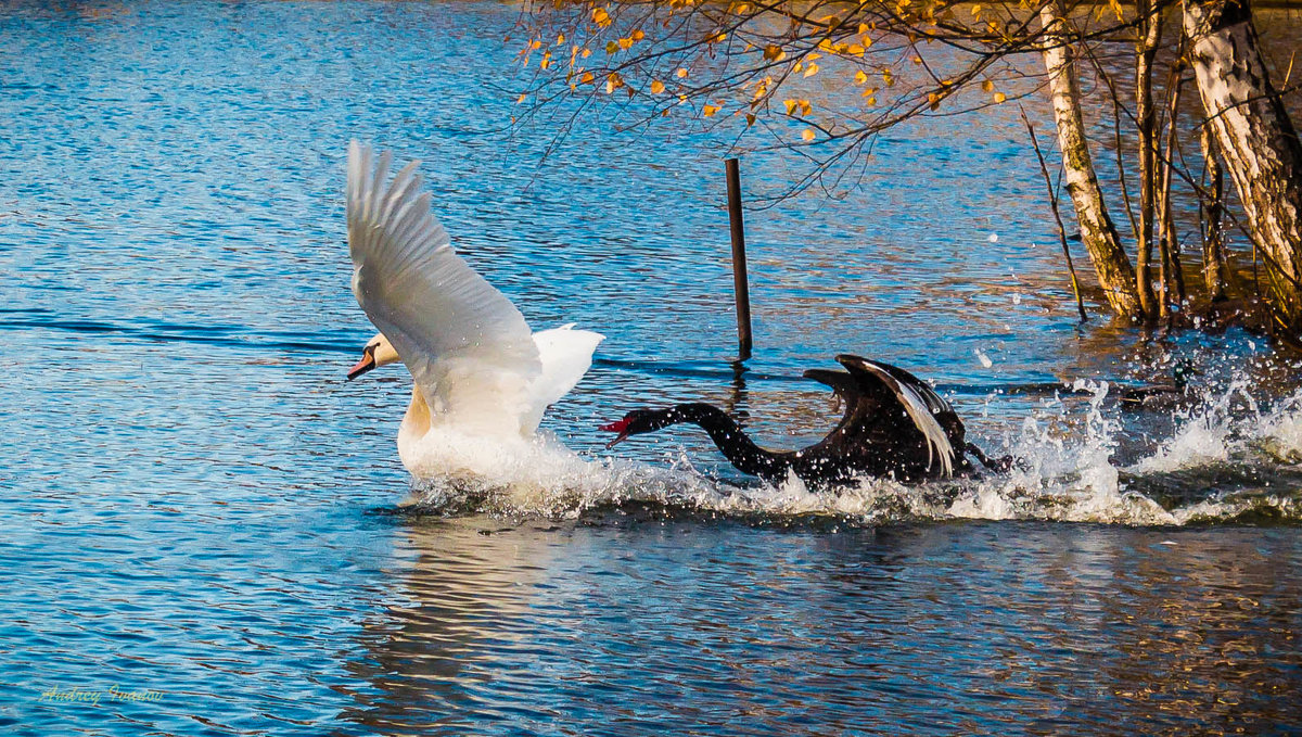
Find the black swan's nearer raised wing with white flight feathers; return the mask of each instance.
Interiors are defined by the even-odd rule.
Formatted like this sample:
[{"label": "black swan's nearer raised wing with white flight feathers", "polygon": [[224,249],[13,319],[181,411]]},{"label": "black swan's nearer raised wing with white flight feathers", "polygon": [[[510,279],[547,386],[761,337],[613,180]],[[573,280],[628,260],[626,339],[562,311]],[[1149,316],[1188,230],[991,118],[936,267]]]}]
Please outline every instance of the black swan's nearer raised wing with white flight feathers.
[{"label": "black swan's nearer raised wing with white flight feathers", "polygon": [[[927,444],[927,465],[931,465],[935,456],[940,456],[944,474],[953,475],[954,460],[958,457],[954,441],[962,445],[963,431],[962,422],[949,402],[904,368],[849,354],[837,355],[836,361],[858,383],[859,395],[872,397],[876,408],[902,409]],[[892,414],[880,410],[876,414],[883,421]]]}]

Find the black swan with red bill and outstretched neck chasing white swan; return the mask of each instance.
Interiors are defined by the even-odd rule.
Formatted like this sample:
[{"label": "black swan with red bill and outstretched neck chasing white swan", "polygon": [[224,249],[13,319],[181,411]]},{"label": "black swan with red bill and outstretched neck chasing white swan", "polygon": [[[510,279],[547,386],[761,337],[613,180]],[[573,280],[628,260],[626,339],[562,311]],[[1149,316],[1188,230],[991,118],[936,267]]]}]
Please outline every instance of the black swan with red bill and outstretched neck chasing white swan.
[{"label": "black swan with red bill and outstretched neck chasing white swan", "polygon": [[837,355],[845,371],[810,368],[805,376],[832,388],[845,404],[840,424],[819,443],[801,451],[766,451],[724,410],[702,402],[667,409],[639,409],[602,426],[618,432],[607,445],[689,422],[700,426],[737,470],[781,482],[794,471],[806,483],[849,482],[859,477],[921,480],[970,473],[971,453],[986,467],[1006,471],[1012,457],[987,458],[963,440],[954,408],[913,374],[880,361]]}]

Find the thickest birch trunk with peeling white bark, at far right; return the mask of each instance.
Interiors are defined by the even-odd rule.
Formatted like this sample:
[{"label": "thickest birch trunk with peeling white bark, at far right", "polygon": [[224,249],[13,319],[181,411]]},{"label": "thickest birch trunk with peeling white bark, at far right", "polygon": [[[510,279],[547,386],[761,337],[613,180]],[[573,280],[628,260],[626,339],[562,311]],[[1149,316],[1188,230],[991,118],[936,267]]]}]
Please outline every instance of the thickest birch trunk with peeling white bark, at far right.
[{"label": "thickest birch trunk with peeling white bark, at far right", "polygon": [[1302,324],[1302,143],[1266,65],[1247,0],[1185,0],[1203,109],[1286,328]]}]

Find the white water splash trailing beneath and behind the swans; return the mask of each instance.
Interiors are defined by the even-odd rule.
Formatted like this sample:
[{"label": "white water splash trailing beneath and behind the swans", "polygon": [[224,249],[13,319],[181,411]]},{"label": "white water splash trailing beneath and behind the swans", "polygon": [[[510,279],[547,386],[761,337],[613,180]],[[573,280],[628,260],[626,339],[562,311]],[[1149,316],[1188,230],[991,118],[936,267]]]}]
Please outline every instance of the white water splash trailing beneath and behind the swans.
[{"label": "white water splash trailing beneath and behind the swans", "polygon": [[[581,457],[555,439],[492,477],[435,478],[411,504],[440,513],[574,518],[642,503],[737,517],[837,517],[876,525],[915,520],[1039,520],[1189,525],[1259,518],[1302,521],[1302,391],[1267,406],[1247,380],[1208,389],[1170,410],[1174,431],[1138,460],[1118,461],[1133,419],[1107,382],[1077,380],[1025,418],[1001,452],[1008,474],[906,486],[862,479],[835,491],[798,478],[745,483],[712,478],[686,453],[667,466]],[[1083,396],[1085,398],[1074,398]]]}]

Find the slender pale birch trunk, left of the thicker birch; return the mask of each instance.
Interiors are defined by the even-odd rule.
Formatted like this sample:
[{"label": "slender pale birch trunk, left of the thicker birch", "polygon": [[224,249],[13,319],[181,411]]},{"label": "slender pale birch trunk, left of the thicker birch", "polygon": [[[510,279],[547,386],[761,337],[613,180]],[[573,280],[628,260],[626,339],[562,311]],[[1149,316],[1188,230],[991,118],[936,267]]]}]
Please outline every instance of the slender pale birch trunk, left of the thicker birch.
[{"label": "slender pale birch trunk, left of the thicker birch", "polygon": [[1081,241],[1090,251],[1090,260],[1094,262],[1094,271],[1099,275],[1108,305],[1116,314],[1135,319],[1143,316],[1135,293],[1135,273],[1117,238],[1117,229],[1103,203],[1099,177],[1094,173],[1085,122],[1081,120],[1081,90],[1075,79],[1065,17],[1059,0],[1046,4],[1040,10],[1046,31],[1044,65],[1049,73],[1049,96],[1057,122],[1059,148],[1062,151],[1066,191],[1075,206]]}]

